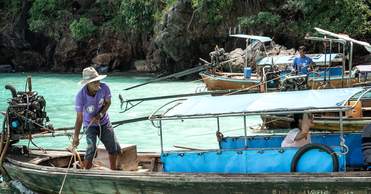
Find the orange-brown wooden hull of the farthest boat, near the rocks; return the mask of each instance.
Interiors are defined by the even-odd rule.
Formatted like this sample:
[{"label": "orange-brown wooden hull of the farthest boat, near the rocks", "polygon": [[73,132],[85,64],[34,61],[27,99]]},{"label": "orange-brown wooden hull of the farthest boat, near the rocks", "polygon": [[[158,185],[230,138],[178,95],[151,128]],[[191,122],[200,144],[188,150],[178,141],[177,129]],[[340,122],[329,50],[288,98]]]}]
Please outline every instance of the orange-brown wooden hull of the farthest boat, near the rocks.
[{"label": "orange-brown wooden hull of the farthest boat, near the rocks", "polygon": [[[256,77],[251,78],[243,78],[243,74],[231,74],[231,73],[215,73],[211,71],[203,71],[199,73],[203,78],[203,81],[208,90],[235,90],[241,88],[249,88],[258,86],[260,84],[260,79]],[[327,79],[326,79],[327,80]],[[330,79],[331,84],[330,88],[347,88],[348,82],[347,79],[343,80],[341,76],[333,76]],[[322,89],[317,84],[324,82],[324,78],[315,77],[315,78],[308,78],[308,84],[311,85],[312,89]],[[351,78],[351,85],[356,84],[357,79]],[[343,87],[342,87],[343,86]],[[326,85],[325,89],[328,89],[328,85]]]}]

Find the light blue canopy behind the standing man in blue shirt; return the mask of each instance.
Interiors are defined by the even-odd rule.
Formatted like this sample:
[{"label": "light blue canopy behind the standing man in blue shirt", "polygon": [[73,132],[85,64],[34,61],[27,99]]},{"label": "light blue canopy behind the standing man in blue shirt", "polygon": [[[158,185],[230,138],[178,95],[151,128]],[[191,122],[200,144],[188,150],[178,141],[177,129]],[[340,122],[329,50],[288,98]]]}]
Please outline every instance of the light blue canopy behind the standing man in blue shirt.
[{"label": "light blue canopy behind the standing man in blue shirt", "polygon": [[[257,65],[265,65],[265,64],[272,64],[272,57],[273,57],[273,64],[275,65],[291,65],[294,58],[299,55],[280,55],[280,56],[268,56],[261,58],[256,64]],[[317,65],[324,65],[325,64],[325,58],[326,58],[326,64],[329,64],[330,61],[330,54],[310,54],[305,55],[308,56],[315,62]],[[342,59],[342,55],[340,54],[331,54],[331,61],[334,59]]]}]

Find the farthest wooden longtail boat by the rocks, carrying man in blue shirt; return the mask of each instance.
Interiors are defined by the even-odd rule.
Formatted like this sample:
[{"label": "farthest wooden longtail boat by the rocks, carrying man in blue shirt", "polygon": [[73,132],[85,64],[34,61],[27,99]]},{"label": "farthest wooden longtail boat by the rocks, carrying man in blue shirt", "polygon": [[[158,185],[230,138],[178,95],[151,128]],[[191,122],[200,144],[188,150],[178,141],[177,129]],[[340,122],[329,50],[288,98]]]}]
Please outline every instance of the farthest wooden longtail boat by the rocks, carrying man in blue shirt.
[{"label": "farthest wooden longtail boat by the rocks, carrying man in blue shirt", "polygon": [[[228,73],[217,71],[213,68],[209,71],[202,71],[199,74],[204,80],[206,88],[208,90],[234,90],[244,88],[260,87],[260,92],[271,92],[271,91],[294,91],[294,90],[308,90],[308,89],[330,89],[330,88],[347,88],[352,87],[353,84],[357,83],[357,79],[354,76],[348,75],[348,71],[345,71],[345,61],[349,60],[349,69],[352,69],[352,43],[357,43],[365,46],[367,50],[371,51],[371,46],[367,42],[356,41],[349,38],[346,35],[336,35],[334,33],[315,28],[319,33],[325,35],[335,36],[338,39],[332,38],[317,38],[309,37],[307,35],[305,39],[326,41],[330,44],[330,54],[310,54],[306,55],[310,57],[316,65],[323,66],[324,68],[314,69],[313,72],[308,73],[306,79],[296,79],[290,77],[290,70],[280,70],[278,66],[285,66],[290,69],[289,66],[292,64],[295,56],[266,56],[256,63],[256,74],[248,75],[246,73]],[[268,37],[261,38],[260,36],[250,35],[231,35],[247,40],[256,40],[263,43],[271,41]],[[249,42],[249,41],[247,41]],[[260,45],[259,42],[259,45]],[[339,43],[343,45],[350,45],[349,57],[345,57],[345,50],[343,53],[331,54],[331,43]],[[264,46],[265,48],[265,46]],[[246,56],[247,56],[247,45],[246,45]],[[224,50],[223,50],[224,51]],[[259,46],[260,51],[260,46]],[[221,52],[217,52],[221,53]],[[326,52],[325,52],[326,53]],[[216,58],[215,52],[210,53],[212,61]],[[214,59],[214,60],[213,60]],[[217,61],[223,61],[223,57],[220,57]],[[335,65],[338,65],[334,67]],[[270,67],[267,67],[270,66]],[[247,68],[247,67],[246,67]],[[286,76],[285,76],[286,75]],[[285,76],[285,77],[284,77]],[[296,80],[295,80],[296,79]],[[285,83],[289,81],[290,84]],[[291,88],[287,88],[288,85]],[[298,87],[298,85],[300,87]],[[283,88],[285,87],[285,88]]]}]

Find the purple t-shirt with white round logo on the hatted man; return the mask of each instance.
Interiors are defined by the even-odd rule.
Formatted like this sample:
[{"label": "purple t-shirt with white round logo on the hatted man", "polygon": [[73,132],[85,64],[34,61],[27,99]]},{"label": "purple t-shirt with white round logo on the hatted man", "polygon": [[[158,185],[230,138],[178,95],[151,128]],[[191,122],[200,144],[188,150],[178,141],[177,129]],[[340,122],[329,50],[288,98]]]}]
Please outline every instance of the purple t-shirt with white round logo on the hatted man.
[{"label": "purple t-shirt with white round logo on the hatted man", "polygon": [[[89,96],[88,85],[85,85],[76,95],[75,110],[82,112],[82,124],[87,127],[93,117],[97,115],[103,105],[105,104],[104,99],[111,98],[111,91],[109,86],[105,82],[99,84],[101,89],[96,91],[95,97]],[[99,120],[99,124],[103,125],[109,121],[108,112],[106,112]],[[98,123],[92,123],[90,126],[99,126]]]}]

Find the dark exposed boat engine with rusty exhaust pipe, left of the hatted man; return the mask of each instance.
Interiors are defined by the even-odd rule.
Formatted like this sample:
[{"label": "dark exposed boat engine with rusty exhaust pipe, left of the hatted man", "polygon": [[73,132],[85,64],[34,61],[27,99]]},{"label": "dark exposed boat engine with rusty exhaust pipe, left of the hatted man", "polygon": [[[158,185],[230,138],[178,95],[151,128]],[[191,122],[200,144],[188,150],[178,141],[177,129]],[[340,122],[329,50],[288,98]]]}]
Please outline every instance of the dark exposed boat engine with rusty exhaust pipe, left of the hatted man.
[{"label": "dark exposed boat engine with rusty exhaust pipe, left of the hatted man", "polygon": [[4,119],[8,123],[10,134],[35,134],[53,130],[53,124],[47,123],[49,117],[46,116],[44,97],[37,96],[36,91],[31,91],[31,76],[27,81],[29,91],[16,92],[13,85],[5,85],[5,88],[12,92]]}]

